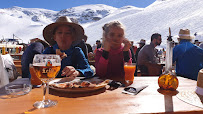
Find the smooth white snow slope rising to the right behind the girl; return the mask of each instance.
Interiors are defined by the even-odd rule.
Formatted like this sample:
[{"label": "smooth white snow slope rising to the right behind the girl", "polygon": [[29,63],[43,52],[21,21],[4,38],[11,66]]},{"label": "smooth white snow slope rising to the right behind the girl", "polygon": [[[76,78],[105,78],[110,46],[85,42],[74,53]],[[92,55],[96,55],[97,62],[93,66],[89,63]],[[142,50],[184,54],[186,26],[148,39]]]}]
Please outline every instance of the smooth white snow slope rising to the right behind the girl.
[{"label": "smooth white snow slope rising to the right behind the girl", "polygon": [[[162,35],[162,46],[165,47],[171,27],[172,36],[177,41],[180,29],[190,29],[193,35],[197,32],[196,39],[203,41],[203,0],[157,0],[139,12],[131,9],[125,13],[110,14],[100,21],[88,26],[86,34],[91,44],[101,38],[101,27],[113,20],[119,20],[126,27],[126,37],[135,42],[146,39],[150,43],[153,33]],[[93,40],[95,39],[95,40]]]}]

